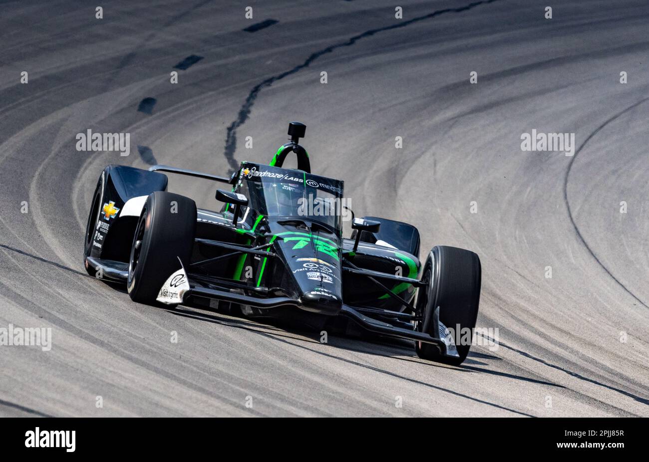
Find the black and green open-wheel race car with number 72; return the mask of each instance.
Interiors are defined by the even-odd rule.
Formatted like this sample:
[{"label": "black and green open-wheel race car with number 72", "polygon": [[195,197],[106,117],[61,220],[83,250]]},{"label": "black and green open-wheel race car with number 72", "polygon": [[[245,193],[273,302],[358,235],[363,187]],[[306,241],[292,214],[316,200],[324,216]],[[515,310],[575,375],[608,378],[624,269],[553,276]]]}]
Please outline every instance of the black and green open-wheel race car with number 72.
[{"label": "black and green open-wheel race car with number 72", "polygon": [[[438,245],[422,263],[415,226],[355,217],[343,181],[311,173],[299,145],[305,133],[306,125],[289,123],[290,141],[269,165],[242,162],[229,177],[108,165],[86,226],[86,270],[125,283],[135,302],[207,300],[238,315],[345,318],[374,335],[412,340],[420,358],[462,363],[478,316],[478,255]],[[282,168],[291,152],[297,169]],[[229,185],[215,190],[223,205],[197,208],[167,191],[162,172]]]}]

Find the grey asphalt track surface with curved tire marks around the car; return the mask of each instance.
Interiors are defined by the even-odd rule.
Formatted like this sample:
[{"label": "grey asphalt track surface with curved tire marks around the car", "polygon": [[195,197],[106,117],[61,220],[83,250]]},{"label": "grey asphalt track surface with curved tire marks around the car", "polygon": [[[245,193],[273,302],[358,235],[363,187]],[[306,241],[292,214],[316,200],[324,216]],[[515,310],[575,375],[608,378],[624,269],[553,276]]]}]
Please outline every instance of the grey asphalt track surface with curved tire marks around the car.
[{"label": "grey asphalt track surface with curved tire marks around the car", "polygon": [[[53,346],[0,346],[0,415],[649,416],[649,4],[398,5],[403,19],[382,0],[105,1],[95,19],[1,3],[0,326],[51,327]],[[104,165],[225,174],[268,162],[291,120],[356,213],[418,226],[422,256],[480,255],[497,350],[447,367],[408,345],[323,345],[86,275]],[[129,132],[130,155],[76,151],[88,128]],[[521,151],[533,128],[574,132],[574,156]],[[215,206],[213,184],[178,187]]]}]

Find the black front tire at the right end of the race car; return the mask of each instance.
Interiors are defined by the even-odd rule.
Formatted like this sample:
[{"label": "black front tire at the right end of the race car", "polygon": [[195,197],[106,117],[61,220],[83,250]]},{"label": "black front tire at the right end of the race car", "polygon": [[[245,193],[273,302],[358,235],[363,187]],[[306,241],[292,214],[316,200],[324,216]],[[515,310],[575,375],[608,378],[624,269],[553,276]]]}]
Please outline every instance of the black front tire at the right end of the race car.
[{"label": "black front tire at the right end of the race car", "polygon": [[[423,317],[415,328],[432,337],[439,337],[439,332],[434,332],[434,311],[439,306],[439,321],[456,334],[454,339],[459,358],[443,356],[437,346],[415,341],[417,356],[438,363],[459,365],[469,354],[478,319],[482,282],[480,258],[470,250],[439,245],[428,254],[422,280],[428,282],[428,287],[422,287],[417,295],[415,308]],[[461,335],[467,332],[466,328],[471,332],[470,342],[466,341],[465,335]],[[460,341],[462,339],[465,341]]]}]

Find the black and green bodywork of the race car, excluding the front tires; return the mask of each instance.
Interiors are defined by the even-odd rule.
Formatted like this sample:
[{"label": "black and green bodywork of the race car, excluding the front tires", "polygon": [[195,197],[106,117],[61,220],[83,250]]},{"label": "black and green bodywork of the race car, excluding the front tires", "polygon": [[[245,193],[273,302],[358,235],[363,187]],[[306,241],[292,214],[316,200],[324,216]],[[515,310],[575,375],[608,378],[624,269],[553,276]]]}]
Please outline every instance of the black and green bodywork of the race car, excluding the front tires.
[{"label": "black and green bodywork of the race car, excluding the front tires", "polygon": [[[310,173],[308,154],[297,143],[304,133],[297,135],[280,147],[270,165],[243,162],[229,178],[164,165],[149,171],[109,165],[93,197],[88,226],[93,226],[93,215],[99,219],[87,233],[86,268],[125,282],[138,204],[153,191],[166,190],[162,172],[207,178],[243,192],[251,203],[236,208],[225,204],[219,212],[197,210],[193,254],[184,268],[190,286],[184,302],[208,298],[253,311],[293,308],[342,315],[376,334],[434,344],[441,354],[453,355],[441,335],[413,328],[413,321],[421,320],[413,303],[415,293],[427,289],[419,280],[419,232],[414,226],[364,217],[368,223],[380,222],[379,230],[369,232],[361,226],[345,238],[341,226],[317,217],[269,214],[254,204],[255,178],[264,175],[284,175],[304,191],[314,185],[315,190],[343,197],[343,182]],[[290,152],[297,154],[298,169],[282,168]]]}]

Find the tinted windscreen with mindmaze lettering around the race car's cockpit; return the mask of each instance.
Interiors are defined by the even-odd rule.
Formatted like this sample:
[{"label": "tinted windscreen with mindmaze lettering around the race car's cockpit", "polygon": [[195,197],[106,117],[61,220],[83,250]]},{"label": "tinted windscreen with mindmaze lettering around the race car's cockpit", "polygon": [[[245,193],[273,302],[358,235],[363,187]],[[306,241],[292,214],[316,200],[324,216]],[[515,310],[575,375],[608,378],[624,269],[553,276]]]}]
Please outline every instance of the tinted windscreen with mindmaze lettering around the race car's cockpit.
[{"label": "tinted windscreen with mindmaze lettering around the race car's cockpit", "polygon": [[271,217],[304,217],[341,230],[343,182],[299,170],[243,164],[241,193]]}]

